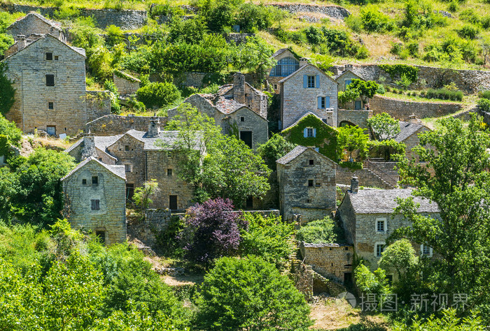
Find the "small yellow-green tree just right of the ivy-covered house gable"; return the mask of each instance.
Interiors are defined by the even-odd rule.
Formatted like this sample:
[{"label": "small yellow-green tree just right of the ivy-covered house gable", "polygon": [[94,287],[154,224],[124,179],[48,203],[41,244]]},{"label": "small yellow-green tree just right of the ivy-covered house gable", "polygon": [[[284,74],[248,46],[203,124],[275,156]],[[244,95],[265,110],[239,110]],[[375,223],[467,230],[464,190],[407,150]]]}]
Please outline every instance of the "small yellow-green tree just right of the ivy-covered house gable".
[{"label": "small yellow-green tree just right of the ivy-covered house gable", "polygon": [[[349,153],[349,159],[363,160],[367,154],[367,141],[369,137],[358,126],[342,126],[338,129],[337,142],[339,149]],[[344,152],[344,153],[345,153]],[[354,152],[356,157],[354,158]]]}]

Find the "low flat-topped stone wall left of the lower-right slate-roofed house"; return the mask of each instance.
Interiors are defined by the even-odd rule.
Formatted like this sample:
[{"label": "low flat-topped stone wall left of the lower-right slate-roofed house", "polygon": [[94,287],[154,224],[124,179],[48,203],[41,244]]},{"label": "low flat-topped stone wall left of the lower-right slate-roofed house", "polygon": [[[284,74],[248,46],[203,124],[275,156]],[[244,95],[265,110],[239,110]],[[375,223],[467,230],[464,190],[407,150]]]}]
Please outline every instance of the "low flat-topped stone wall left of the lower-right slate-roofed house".
[{"label": "low flat-topped stone wall left of the lower-right slate-roofed house", "polygon": [[323,276],[344,281],[344,274],[352,272],[353,247],[339,244],[300,243],[304,263]]}]

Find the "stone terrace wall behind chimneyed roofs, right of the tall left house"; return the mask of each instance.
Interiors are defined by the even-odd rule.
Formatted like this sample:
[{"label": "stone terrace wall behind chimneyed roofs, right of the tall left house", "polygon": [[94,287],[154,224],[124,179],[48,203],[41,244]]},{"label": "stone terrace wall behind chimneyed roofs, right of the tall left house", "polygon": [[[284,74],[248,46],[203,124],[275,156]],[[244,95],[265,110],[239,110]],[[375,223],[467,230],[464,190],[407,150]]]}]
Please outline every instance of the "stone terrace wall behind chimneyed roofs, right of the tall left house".
[{"label": "stone terrace wall behind chimneyed roofs, right of the tall left house", "polygon": [[[85,130],[90,130],[94,135],[120,135],[132,128],[138,131],[148,131],[150,117],[146,116],[120,116],[106,115],[94,119],[85,125]],[[167,124],[167,117],[160,117],[160,127]]]}]

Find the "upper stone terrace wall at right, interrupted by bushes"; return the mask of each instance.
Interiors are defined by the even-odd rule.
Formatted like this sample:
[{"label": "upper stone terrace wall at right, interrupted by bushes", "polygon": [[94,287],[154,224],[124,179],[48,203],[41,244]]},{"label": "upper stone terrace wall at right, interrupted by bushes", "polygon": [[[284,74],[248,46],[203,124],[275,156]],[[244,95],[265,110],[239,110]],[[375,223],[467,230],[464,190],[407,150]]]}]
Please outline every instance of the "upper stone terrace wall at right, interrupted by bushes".
[{"label": "upper stone terrace wall at right, interrupted by bushes", "polygon": [[[439,87],[440,82],[444,84],[454,82],[458,89],[468,93],[490,89],[490,71],[446,70],[431,66],[416,67],[419,68],[419,82],[425,80],[428,87]],[[333,66],[330,68],[330,71],[333,73],[338,73],[342,70],[344,70],[344,66]],[[390,75],[379,68],[377,64],[355,64],[351,70],[365,80],[379,80],[380,77],[384,77],[386,83],[392,84],[393,86],[396,86],[394,84],[395,80],[400,79],[399,77],[395,77],[395,80],[392,80]],[[423,86],[414,84],[413,87],[422,88]]]}]

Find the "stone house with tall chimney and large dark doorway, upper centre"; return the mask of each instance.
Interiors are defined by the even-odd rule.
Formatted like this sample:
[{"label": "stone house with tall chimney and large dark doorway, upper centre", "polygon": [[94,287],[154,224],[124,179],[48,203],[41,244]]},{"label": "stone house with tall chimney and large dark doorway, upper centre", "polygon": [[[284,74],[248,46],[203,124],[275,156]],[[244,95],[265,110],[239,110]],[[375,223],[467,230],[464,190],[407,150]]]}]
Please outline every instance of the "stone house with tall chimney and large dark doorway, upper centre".
[{"label": "stone house with tall chimney and large dark doorway, upper centre", "polygon": [[[248,147],[256,149],[269,139],[267,96],[235,74],[234,83],[223,85],[216,94],[194,94],[184,101],[214,118],[225,135],[236,134]],[[168,111],[169,119],[177,108]]]}]

